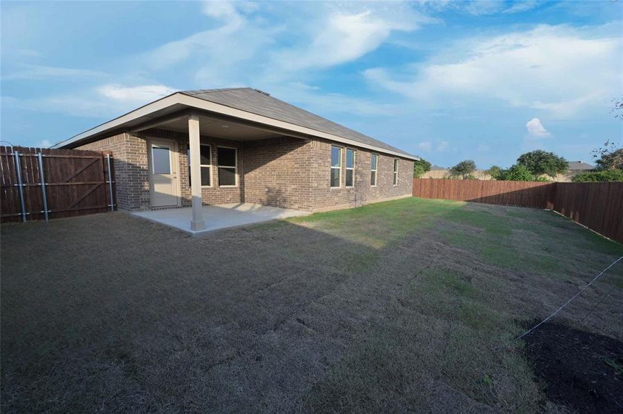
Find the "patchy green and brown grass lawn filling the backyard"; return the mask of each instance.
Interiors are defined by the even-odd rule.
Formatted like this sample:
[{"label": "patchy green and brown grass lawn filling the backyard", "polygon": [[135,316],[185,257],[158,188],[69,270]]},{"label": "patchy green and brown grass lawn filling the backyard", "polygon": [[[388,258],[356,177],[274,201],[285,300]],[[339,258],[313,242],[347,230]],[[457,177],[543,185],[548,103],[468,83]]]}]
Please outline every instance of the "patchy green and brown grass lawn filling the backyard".
[{"label": "patchy green and brown grass lawn filling the backyard", "polygon": [[[416,198],[202,237],[3,224],[0,248],[3,413],[565,412],[508,342],[623,255],[555,213]],[[555,321],[622,340],[622,304],[620,262]]]}]

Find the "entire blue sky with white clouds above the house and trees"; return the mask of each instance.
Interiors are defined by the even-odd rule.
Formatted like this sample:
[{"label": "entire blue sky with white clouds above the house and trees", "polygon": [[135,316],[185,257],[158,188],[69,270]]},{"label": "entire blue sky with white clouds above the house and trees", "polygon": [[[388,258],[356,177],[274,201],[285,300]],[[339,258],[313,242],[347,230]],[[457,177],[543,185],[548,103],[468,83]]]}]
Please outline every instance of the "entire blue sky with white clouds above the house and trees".
[{"label": "entire blue sky with white clouds above the house and trees", "polygon": [[174,90],[252,86],[452,166],[622,141],[617,1],[10,2],[1,139],[46,146]]}]

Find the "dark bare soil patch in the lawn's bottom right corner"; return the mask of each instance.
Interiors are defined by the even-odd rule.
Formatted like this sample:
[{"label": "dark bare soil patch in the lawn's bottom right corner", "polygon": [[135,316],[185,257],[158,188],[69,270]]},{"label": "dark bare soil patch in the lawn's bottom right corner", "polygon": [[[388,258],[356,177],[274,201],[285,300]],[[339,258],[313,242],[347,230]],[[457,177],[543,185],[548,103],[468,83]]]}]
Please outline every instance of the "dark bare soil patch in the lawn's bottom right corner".
[{"label": "dark bare soil patch in the lawn's bottom right corner", "polygon": [[580,413],[623,411],[623,342],[561,324],[543,324],[525,339],[550,400]]}]

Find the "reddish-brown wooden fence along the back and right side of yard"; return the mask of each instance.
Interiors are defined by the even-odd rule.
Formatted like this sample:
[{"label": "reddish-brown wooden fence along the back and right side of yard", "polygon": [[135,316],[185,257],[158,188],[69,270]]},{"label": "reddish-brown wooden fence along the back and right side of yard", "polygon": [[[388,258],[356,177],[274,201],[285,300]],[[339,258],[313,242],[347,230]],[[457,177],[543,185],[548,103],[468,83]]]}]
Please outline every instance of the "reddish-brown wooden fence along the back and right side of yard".
[{"label": "reddish-brown wooden fence along the back and right side of yard", "polygon": [[413,196],[555,210],[623,243],[623,182],[413,179]]}]

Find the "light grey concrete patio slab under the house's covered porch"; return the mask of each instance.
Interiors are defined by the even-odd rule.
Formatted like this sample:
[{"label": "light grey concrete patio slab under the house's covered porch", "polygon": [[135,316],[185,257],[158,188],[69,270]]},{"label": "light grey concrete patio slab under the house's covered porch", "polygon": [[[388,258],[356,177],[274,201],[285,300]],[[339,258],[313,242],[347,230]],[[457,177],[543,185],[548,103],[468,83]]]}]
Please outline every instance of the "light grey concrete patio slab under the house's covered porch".
[{"label": "light grey concrete patio slab under the house's covered porch", "polygon": [[217,206],[203,206],[203,219],[205,230],[191,230],[190,219],[192,209],[170,208],[167,210],[151,210],[132,213],[137,217],[142,217],[165,226],[184,230],[193,235],[219,230],[221,228],[239,227],[248,224],[261,223],[288,217],[298,217],[311,213],[301,210],[290,210],[288,208],[277,208],[261,206],[260,204],[238,203],[238,204],[219,204]]}]

